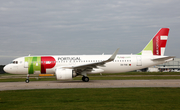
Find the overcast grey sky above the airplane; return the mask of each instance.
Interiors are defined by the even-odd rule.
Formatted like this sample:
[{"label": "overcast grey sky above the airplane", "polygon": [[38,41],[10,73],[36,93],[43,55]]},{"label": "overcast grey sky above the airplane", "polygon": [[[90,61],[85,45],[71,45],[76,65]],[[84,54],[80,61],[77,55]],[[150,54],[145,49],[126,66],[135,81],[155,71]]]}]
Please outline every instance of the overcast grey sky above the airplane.
[{"label": "overcast grey sky above the airplane", "polygon": [[0,64],[31,55],[139,53],[170,28],[180,58],[180,0],[0,0]]}]

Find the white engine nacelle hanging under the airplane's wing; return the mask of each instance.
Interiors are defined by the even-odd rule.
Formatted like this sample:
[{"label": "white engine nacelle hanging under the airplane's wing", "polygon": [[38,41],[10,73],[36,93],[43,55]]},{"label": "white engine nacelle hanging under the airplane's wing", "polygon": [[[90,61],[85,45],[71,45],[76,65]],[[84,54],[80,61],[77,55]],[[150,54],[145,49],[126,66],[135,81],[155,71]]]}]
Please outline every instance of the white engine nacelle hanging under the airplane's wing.
[{"label": "white engine nacelle hanging under the airplane's wing", "polygon": [[72,69],[56,69],[56,79],[72,79],[73,77],[76,77],[76,73]]}]

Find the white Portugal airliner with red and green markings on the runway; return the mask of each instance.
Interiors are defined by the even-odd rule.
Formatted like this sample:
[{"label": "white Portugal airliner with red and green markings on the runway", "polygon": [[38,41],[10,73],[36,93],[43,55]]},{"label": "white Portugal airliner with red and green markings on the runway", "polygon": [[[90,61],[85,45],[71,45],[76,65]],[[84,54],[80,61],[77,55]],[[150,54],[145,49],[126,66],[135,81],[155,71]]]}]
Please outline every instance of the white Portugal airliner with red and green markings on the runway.
[{"label": "white Portugal airliner with red and green markings on the runway", "polygon": [[57,80],[72,79],[82,75],[82,81],[88,82],[87,74],[121,73],[155,66],[172,61],[174,56],[164,56],[169,28],[161,28],[138,54],[112,55],[49,55],[25,56],[14,59],[3,69],[11,74],[55,74]]}]

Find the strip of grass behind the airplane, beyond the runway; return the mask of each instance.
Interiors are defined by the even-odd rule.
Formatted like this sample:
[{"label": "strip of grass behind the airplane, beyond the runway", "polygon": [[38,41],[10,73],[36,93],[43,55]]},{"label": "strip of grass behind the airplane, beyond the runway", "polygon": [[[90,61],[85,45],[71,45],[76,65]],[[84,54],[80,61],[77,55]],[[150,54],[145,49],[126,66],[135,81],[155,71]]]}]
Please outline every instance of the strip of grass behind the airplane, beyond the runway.
[{"label": "strip of grass behind the airplane, beyond the runway", "polygon": [[[175,76],[176,75],[176,76]],[[73,80],[81,80],[82,76],[73,78]],[[117,74],[89,74],[90,80],[152,80],[152,79],[180,79],[180,73],[176,72],[127,72]],[[1,74],[0,82],[21,82],[25,81],[26,75]],[[30,81],[55,81],[54,77],[38,77],[38,75],[30,75]]]}]

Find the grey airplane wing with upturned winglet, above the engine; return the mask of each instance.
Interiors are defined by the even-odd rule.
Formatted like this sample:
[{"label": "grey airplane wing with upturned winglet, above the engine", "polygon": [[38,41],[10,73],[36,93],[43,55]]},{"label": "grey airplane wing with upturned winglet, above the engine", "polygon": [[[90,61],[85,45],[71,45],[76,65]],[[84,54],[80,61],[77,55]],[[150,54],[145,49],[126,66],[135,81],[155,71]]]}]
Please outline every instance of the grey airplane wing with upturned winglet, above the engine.
[{"label": "grey airplane wing with upturned winglet, above the engine", "polygon": [[118,51],[119,51],[119,48],[111,55],[111,57],[109,59],[101,61],[101,62],[76,65],[76,66],[64,66],[61,68],[64,68],[64,69],[92,69],[92,68],[97,68],[97,66],[104,66],[105,63],[111,62],[115,59]]}]

